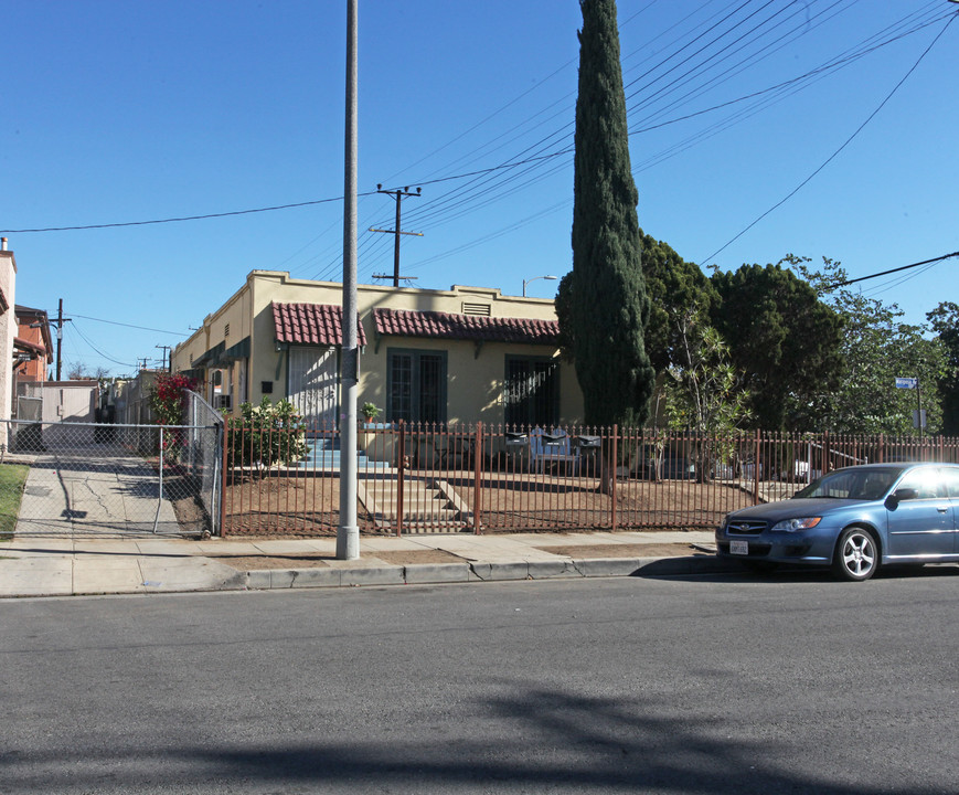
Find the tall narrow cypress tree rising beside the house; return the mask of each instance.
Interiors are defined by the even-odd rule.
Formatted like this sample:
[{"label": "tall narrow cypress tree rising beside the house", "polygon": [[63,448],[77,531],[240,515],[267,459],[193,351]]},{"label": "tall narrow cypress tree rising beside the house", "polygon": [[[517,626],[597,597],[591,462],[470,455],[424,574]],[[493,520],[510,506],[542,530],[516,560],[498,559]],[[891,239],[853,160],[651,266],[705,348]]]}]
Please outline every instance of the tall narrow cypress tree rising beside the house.
[{"label": "tall narrow cypress tree rising beside the house", "polygon": [[590,425],[642,425],[654,372],[615,0],[580,0],[568,338]]}]

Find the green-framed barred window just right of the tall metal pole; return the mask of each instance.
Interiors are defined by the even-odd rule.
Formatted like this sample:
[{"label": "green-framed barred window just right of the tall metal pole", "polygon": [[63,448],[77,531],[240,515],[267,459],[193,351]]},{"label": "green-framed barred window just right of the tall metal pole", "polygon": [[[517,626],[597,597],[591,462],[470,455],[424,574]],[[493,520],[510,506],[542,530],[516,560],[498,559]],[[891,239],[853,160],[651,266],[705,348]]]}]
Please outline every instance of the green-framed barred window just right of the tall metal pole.
[{"label": "green-framed barred window just right of the tall metal pole", "polygon": [[446,353],[387,351],[387,422],[446,422]]}]

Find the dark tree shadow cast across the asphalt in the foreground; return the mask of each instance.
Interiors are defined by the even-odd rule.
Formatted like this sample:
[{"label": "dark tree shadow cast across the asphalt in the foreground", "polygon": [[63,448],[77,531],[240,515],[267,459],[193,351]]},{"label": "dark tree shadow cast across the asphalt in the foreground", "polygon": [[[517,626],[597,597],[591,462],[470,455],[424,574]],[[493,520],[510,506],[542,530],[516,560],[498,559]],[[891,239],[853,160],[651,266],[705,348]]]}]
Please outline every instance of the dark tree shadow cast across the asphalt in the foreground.
[{"label": "dark tree shadow cast across the asphalt in the foreground", "polygon": [[[873,767],[850,768],[831,782],[822,763],[799,742],[763,739],[734,717],[675,717],[675,704],[635,696],[580,697],[514,682],[501,697],[466,701],[457,729],[440,720],[413,739],[402,725],[364,724],[355,716],[321,718],[298,735],[313,742],[284,744],[224,740],[194,745],[130,748],[107,738],[53,754],[21,750],[3,754],[9,792],[85,792],[108,781],[109,792],[643,792],[818,793],[892,795],[929,792],[902,775],[883,780]],[[319,713],[322,716],[322,711]],[[420,727],[423,729],[424,727]],[[289,736],[291,727],[264,723],[257,736]],[[162,750],[159,750],[162,749]],[[839,763],[837,763],[839,764]],[[892,764],[892,763],[889,763]],[[887,771],[888,772],[888,771]],[[896,781],[899,786],[892,784]],[[277,789],[281,787],[281,789]],[[4,789],[8,791],[8,789]]]}]

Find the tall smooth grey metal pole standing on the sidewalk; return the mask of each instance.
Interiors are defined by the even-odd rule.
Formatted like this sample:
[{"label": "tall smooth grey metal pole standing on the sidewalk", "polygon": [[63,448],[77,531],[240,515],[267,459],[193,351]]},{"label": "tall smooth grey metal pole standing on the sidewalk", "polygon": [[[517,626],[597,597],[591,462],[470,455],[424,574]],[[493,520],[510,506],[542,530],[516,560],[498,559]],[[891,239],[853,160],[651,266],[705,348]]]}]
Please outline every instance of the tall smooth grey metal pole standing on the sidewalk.
[{"label": "tall smooth grey metal pole standing on the sidewalk", "polygon": [[340,524],[337,560],[360,556],[358,521],[356,398],[360,382],[360,335],[356,330],[356,173],[359,171],[359,59],[356,55],[359,0],[347,0],[347,125],[343,186],[343,319],[340,383]]}]

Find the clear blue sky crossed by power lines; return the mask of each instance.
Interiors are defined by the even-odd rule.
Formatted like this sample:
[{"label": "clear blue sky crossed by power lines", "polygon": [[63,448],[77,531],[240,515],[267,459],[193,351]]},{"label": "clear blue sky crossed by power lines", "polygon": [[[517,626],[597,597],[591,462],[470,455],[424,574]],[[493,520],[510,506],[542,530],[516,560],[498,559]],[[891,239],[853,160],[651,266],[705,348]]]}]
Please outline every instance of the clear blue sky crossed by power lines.
[{"label": "clear blue sky crossed by power lines", "polygon": [[[341,278],[345,9],[0,1],[0,230],[17,301],[72,318],[65,370],[156,365],[254,268]],[[859,277],[959,250],[959,6],[618,11],[646,232],[704,269],[795,253]],[[359,21],[360,280],[393,269],[392,235],[365,232],[393,229],[377,183],[423,189],[403,202],[423,233],[403,239],[407,286],[519,295],[565,274],[578,3],[360,0]],[[861,287],[919,324],[959,300],[957,265]]]}]

